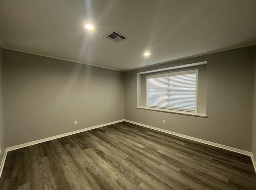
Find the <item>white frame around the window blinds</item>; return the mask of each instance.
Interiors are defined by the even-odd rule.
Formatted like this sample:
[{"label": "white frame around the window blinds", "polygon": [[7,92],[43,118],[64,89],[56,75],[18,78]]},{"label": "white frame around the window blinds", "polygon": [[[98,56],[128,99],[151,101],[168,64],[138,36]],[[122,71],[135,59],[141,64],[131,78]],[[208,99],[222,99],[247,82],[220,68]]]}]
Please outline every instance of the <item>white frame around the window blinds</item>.
[{"label": "white frame around the window blinds", "polygon": [[[196,105],[195,105],[195,111],[148,106],[148,78],[156,78],[156,77],[164,77],[164,76],[175,76],[175,75],[182,75],[182,74],[196,74],[196,102],[195,102]],[[198,69],[184,70],[184,71],[177,71],[177,72],[168,72],[168,73],[163,73],[163,74],[147,75],[146,76],[146,108],[157,108],[157,109],[163,109],[163,110],[175,110],[175,112],[181,112],[181,113],[187,112],[187,113],[198,114]]]}]

